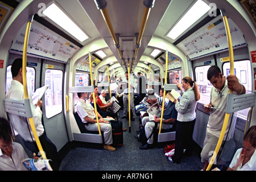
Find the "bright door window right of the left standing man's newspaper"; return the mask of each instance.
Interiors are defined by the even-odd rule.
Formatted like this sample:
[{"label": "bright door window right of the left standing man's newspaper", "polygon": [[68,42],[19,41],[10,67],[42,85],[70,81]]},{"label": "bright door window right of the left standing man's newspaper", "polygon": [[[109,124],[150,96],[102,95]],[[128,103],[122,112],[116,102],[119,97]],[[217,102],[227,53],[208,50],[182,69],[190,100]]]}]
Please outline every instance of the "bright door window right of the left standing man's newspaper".
[{"label": "bright door window right of the left standing man's newspaper", "polygon": [[63,105],[63,72],[56,69],[47,69],[45,85],[49,85],[44,95],[46,117],[51,118],[61,113]]}]

